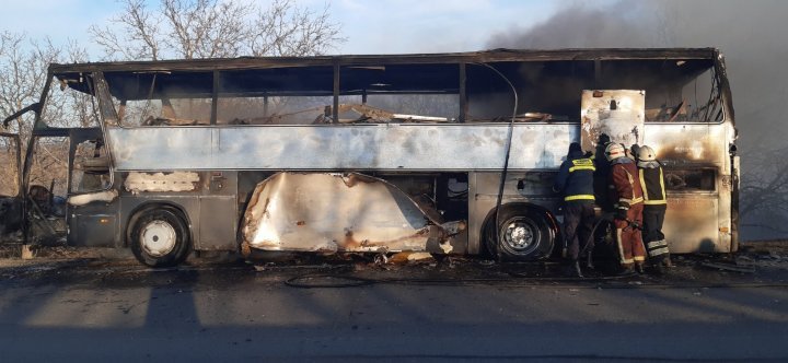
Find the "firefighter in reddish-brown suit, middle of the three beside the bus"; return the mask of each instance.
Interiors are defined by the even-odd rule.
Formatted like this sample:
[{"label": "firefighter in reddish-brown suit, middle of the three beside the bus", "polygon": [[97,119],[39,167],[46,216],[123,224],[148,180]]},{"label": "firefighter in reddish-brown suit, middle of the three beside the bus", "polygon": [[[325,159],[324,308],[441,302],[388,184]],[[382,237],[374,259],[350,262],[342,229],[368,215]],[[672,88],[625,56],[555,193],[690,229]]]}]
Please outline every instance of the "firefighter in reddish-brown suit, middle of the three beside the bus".
[{"label": "firefighter in reddish-brown suit, middle of the three beside the bus", "polygon": [[646,250],[640,235],[642,225],[642,188],[635,162],[626,156],[619,143],[610,143],[605,156],[611,163],[610,189],[614,202],[615,242],[624,273],[633,267],[644,273]]}]

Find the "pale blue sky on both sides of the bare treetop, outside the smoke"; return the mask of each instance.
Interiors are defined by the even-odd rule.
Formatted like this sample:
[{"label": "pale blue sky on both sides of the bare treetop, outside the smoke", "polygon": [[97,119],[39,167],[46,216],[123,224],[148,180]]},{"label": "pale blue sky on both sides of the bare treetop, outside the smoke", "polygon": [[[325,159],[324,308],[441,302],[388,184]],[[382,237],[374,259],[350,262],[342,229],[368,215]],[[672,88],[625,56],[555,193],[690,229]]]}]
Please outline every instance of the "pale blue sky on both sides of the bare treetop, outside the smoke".
[{"label": "pale blue sky on both sides of the bare treetop, outside the smoke", "polygon": [[[114,0],[0,0],[0,31],[49,37],[56,44],[74,39],[90,46],[88,27],[107,24],[121,4]],[[157,3],[155,0],[150,0]],[[347,39],[333,54],[397,54],[484,49],[491,34],[546,20],[566,1],[538,0],[296,0],[321,11],[328,3],[332,20]],[[266,1],[262,2],[263,4]]]}]

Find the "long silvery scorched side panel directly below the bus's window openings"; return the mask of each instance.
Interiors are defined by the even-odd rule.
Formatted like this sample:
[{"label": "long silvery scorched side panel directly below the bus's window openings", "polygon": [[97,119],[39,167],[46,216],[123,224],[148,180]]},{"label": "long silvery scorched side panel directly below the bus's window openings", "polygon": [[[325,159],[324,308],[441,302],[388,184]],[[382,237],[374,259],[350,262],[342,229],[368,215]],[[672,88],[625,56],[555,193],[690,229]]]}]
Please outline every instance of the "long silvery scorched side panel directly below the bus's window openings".
[{"label": "long silvery scorched side panel directly below the bus's window openings", "polygon": [[[515,125],[509,168],[558,167],[578,131]],[[473,171],[503,166],[507,125],[109,127],[108,138],[119,171]]]}]

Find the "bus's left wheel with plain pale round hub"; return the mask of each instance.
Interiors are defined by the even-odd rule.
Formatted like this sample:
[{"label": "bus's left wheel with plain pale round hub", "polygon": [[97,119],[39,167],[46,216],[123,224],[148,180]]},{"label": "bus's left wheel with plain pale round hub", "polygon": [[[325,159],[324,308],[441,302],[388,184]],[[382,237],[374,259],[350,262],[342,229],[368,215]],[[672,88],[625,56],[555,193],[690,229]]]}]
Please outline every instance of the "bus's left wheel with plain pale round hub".
[{"label": "bus's left wheel with plain pale round hub", "polygon": [[192,249],[182,213],[171,207],[146,209],[130,220],[128,244],[137,260],[149,267],[173,267]]}]

